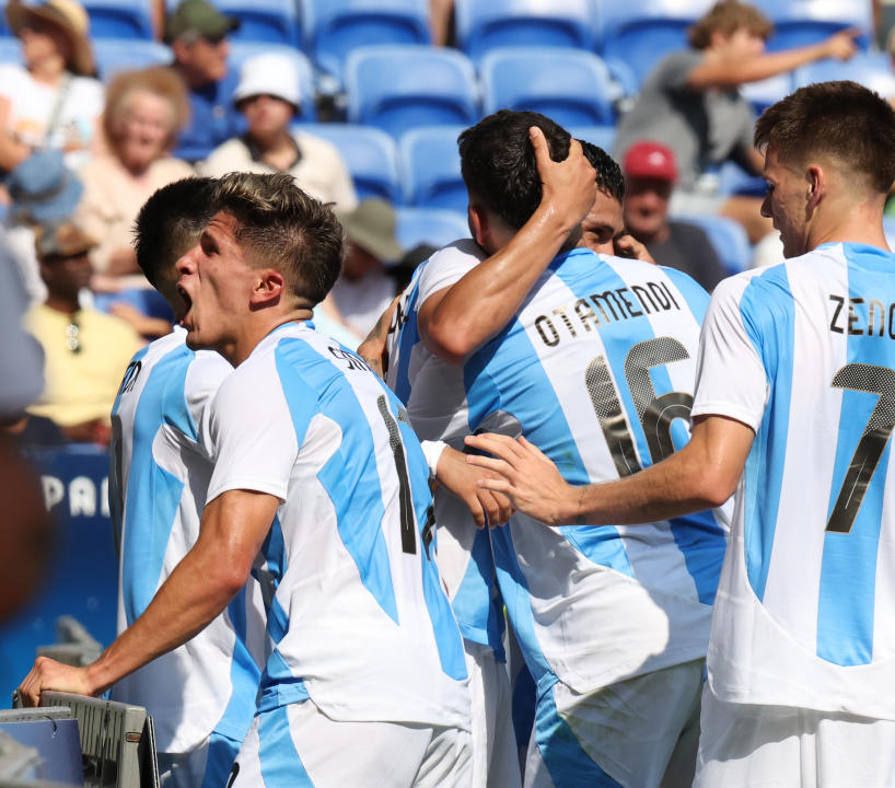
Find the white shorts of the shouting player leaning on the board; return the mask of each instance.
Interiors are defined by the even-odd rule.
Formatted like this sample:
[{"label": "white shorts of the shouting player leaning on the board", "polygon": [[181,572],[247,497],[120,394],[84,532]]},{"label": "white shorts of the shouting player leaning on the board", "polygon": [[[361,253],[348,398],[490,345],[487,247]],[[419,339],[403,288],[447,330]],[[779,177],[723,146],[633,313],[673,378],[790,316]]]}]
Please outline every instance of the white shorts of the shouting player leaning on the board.
[{"label": "white shorts of the shouting player leaning on the board", "polygon": [[260,711],[228,788],[468,788],[469,732],[337,722],[312,700]]}]

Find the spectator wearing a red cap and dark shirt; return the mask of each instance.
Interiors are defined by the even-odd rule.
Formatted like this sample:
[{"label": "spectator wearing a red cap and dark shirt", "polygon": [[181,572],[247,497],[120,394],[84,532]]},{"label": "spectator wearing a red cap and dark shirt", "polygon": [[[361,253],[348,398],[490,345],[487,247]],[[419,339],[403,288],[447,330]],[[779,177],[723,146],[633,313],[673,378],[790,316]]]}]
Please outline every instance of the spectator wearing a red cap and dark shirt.
[{"label": "spectator wearing a red cap and dark shirt", "polygon": [[669,220],[669,199],[677,179],[674,152],[642,140],[625,154],[625,227],[659,265],[689,274],[711,292],[728,273],[701,228]]}]

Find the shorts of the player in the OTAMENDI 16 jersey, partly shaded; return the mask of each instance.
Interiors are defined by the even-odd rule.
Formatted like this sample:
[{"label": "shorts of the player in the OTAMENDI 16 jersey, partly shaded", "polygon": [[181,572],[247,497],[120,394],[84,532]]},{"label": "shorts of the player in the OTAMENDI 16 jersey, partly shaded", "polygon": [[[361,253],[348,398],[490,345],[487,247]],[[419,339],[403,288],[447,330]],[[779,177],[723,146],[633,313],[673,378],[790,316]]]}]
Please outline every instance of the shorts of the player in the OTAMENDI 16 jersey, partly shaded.
[{"label": "shorts of the player in the OTAMENDI 16 jersey, partly shaded", "polygon": [[525,788],[689,788],[704,665],[685,662],[586,695],[554,684],[537,699]]}]

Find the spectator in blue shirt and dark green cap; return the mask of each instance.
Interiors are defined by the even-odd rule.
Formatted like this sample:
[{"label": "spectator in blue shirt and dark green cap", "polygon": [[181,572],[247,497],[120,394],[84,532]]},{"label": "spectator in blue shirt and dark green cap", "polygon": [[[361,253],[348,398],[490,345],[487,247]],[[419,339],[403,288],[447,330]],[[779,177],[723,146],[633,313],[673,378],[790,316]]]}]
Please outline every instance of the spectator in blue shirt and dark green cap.
[{"label": "spectator in blue shirt and dark green cap", "polygon": [[167,19],[165,40],[174,53],[174,69],[189,91],[190,123],[178,139],[175,154],[196,161],[214,146],[242,131],[231,111],[233,82],[229,79],[226,36],[240,26],[208,0],[183,0]]}]

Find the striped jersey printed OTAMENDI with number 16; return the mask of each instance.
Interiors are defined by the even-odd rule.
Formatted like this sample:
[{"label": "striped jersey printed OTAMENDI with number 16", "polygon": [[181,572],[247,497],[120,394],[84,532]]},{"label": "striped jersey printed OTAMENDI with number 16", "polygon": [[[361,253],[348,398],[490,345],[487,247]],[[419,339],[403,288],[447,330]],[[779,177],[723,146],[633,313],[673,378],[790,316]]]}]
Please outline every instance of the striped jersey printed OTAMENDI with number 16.
[{"label": "striped jersey printed OTAMENDI with number 16", "polygon": [[[673,269],[560,254],[465,364],[468,430],[524,434],[577,485],[659,462],[688,440],[707,302]],[[711,512],[558,529],[518,513],[491,541],[536,682],[585,693],[705,656],[724,551]]]}]

